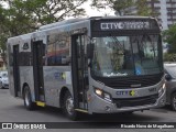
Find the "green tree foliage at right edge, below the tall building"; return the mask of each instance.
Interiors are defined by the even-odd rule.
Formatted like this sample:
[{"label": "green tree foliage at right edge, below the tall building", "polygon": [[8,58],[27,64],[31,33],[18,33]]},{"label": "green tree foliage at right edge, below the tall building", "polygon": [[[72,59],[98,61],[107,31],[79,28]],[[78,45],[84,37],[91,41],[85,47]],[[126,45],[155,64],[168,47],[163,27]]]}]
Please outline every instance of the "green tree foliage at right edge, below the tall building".
[{"label": "green tree foliage at right edge, below the tall building", "polygon": [[169,44],[168,53],[176,53],[176,24],[163,31],[163,41]]}]

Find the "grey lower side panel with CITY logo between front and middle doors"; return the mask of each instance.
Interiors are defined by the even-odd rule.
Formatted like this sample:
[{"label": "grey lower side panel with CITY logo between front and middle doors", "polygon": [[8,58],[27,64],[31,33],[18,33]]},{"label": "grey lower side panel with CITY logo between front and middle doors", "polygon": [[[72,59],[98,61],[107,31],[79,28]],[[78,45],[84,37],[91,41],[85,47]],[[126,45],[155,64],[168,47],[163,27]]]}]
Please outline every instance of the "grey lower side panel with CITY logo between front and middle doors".
[{"label": "grey lower side panel with CITY logo between front and middle doors", "polygon": [[44,66],[44,87],[46,105],[61,107],[62,88],[67,88],[73,95],[70,66]]}]

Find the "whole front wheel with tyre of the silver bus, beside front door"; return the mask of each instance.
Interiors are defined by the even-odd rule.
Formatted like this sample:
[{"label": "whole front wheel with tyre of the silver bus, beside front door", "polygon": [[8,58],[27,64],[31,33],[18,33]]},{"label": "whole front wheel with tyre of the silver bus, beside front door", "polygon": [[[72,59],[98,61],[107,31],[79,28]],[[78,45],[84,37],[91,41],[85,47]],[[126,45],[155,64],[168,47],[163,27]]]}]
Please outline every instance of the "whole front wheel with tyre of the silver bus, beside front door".
[{"label": "whole front wheel with tyre of the silver bus, beside front door", "polygon": [[74,99],[69,91],[67,91],[64,97],[64,112],[74,121],[78,119],[78,112],[74,109]]}]

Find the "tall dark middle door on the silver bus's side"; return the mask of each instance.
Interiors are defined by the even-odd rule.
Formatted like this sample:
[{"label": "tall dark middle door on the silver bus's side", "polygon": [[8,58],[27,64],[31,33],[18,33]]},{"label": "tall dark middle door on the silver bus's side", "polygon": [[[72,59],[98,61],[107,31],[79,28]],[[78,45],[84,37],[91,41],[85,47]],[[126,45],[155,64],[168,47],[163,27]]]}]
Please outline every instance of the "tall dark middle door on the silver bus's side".
[{"label": "tall dark middle door on the silver bus's side", "polygon": [[43,42],[32,43],[35,101],[44,101]]}]

